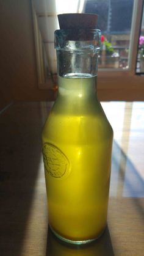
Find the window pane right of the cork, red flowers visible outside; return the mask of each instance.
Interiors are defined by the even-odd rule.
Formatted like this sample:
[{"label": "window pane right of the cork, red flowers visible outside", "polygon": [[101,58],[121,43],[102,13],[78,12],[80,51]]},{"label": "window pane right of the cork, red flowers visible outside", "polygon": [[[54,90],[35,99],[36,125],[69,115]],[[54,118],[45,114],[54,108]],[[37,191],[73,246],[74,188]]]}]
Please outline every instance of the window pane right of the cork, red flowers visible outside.
[{"label": "window pane right of the cork, red flowers visible outside", "polygon": [[128,68],[134,0],[87,0],[85,13],[97,13],[102,32],[99,68]]}]

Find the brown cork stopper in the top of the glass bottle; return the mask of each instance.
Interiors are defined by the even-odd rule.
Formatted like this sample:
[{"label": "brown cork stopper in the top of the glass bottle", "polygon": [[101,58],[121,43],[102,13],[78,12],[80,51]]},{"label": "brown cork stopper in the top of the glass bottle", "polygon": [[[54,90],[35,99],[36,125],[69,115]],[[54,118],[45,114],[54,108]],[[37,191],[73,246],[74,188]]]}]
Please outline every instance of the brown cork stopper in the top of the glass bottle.
[{"label": "brown cork stopper in the top of the glass bottle", "polygon": [[97,14],[63,13],[58,15],[60,29],[96,29]]}]

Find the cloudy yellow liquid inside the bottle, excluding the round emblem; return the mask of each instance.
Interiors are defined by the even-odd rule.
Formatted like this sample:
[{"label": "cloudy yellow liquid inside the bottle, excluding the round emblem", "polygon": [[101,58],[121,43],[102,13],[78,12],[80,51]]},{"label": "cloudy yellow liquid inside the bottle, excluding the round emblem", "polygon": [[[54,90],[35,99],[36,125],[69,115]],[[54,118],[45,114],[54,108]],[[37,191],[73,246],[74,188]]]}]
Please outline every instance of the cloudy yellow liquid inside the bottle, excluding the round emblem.
[{"label": "cloudy yellow liquid inside the bottle, excluding the round emblem", "polygon": [[92,93],[94,77],[59,78],[59,86],[42,137],[62,152],[67,171],[57,178],[45,170],[49,225],[68,240],[91,240],[107,222],[113,132]]}]

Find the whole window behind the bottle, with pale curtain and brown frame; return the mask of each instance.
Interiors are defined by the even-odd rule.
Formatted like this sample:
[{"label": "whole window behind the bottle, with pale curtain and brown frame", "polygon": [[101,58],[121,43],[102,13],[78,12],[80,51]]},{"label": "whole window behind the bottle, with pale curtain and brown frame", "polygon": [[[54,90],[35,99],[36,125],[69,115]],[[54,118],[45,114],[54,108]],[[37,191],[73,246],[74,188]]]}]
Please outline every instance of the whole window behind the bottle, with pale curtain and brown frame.
[{"label": "whole window behind the bottle, with pale curtain and brown frame", "polygon": [[57,83],[54,50],[54,30],[59,29],[57,14],[91,12],[98,13],[98,26],[103,34],[99,54],[99,99],[144,100],[140,45],[138,47],[139,37],[143,36],[143,2],[144,0],[32,0],[40,89],[53,88]]}]

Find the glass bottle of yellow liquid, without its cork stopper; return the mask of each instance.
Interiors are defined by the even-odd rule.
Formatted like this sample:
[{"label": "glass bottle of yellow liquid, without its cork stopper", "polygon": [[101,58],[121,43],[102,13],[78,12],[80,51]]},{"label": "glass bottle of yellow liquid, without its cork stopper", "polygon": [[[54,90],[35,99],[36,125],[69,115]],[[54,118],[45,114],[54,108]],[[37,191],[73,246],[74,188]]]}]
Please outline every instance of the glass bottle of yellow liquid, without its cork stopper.
[{"label": "glass bottle of yellow liquid, without its cork stopper", "polygon": [[113,131],[96,97],[98,29],[55,32],[59,92],[43,128],[49,227],[69,243],[107,224]]}]

